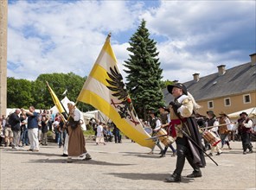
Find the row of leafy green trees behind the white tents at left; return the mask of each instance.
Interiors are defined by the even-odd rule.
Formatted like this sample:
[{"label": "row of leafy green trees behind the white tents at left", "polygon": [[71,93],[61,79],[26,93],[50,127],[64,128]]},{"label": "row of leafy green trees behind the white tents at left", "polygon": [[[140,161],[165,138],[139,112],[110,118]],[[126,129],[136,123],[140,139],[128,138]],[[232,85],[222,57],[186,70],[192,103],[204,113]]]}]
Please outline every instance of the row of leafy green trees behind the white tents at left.
[{"label": "row of leafy green trees behind the white tents at left", "polygon": [[[35,81],[7,78],[7,106],[28,109],[30,105],[34,105],[36,109],[50,109],[54,102],[46,81],[60,100],[64,98],[62,93],[67,89],[67,98],[76,101],[86,77],[82,78],[74,73],[44,73]],[[78,103],[77,107],[84,112],[95,110],[90,104]]]}]

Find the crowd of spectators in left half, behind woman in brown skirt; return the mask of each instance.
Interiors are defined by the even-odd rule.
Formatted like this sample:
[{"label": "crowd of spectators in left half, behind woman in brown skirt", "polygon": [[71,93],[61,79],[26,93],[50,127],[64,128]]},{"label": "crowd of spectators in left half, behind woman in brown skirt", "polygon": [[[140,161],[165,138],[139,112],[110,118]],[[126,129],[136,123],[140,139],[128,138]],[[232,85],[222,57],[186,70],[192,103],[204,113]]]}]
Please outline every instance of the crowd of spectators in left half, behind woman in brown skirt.
[{"label": "crowd of spectators in left half, behind woman in brown skirt", "polygon": [[[19,149],[25,146],[29,146],[29,130],[28,130],[28,117],[26,113],[22,113],[22,109],[16,109],[14,113],[10,113],[7,117],[3,115],[0,118],[0,146],[12,147],[13,149]],[[13,119],[15,117],[15,119]],[[40,110],[36,116],[38,122],[38,142],[42,146],[48,145],[48,136],[54,137],[56,142],[61,148],[64,146],[65,138],[67,135],[67,129],[65,128],[63,117],[60,113],[54,114],[51,110]],[[13,120],[16,120],[17,128],[12,127]],[[92,118],[89,123],[95,131],[95,138],[102,136],[103,142],[122,142],[122,135],[118,128],[113,123],[103,123],[96,121]],[[102,126],[102,129],[97,131],[98,126]],[[49,135],[48,131],[52,133]],[[99,134],[100,133],[100,134]],[[94,139],[96,140],[96,139]]]}]

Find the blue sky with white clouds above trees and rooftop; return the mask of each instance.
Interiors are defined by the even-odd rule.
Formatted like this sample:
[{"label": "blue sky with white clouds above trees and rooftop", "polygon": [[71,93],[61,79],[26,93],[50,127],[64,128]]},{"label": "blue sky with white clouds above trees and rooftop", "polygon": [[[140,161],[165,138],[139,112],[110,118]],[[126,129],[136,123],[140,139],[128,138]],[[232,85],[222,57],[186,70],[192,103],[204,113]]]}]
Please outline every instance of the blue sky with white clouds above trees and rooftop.
[{"label": "blue sky with white clouds above trees and rooftop", "polygon": [[186,82],[250,61],[255,1],[9,0],[8,77],[90,73],[106,35],[123,72],[142,19],[157,41],[163,79]]}]

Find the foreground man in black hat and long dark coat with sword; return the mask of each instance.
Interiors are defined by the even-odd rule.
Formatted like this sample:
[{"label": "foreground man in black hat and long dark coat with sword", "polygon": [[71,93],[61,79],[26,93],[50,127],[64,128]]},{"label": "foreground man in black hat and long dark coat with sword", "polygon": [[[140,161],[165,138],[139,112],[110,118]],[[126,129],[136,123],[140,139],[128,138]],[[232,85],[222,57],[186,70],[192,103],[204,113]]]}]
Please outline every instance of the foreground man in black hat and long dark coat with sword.
[{"label": "foreground man in black hat and long dark coat with sword", "polygon": [[168,85],[167,89],[175,98],[170,102],[170,116],[171,135],[176,137],[177,159],[175,171],[165,180],[167,182],[181,181],[185,158],[194,169],[193,173],[187,177],[202,177],[200,168],[205,167],[206,163],[202,151],[202,139],[194,116],[200,106],[195,103],[195,99],[181,83]]}]

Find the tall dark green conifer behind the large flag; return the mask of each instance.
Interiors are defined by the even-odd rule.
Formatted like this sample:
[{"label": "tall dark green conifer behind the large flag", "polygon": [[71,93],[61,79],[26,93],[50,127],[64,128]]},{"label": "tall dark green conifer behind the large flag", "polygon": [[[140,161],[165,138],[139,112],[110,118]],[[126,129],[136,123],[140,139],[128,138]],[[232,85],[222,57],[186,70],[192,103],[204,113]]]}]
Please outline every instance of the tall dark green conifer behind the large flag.
[{"label": "tall dark green conifer behind the large flag", "polygon": [[131,54],[125,60],[125,73],[127,73],[126,86],[130,92],[132,102],[138,117],[146,117],[147,111],[157,110],[159,104],[163,104],[163,92],[161,79],[163,70],[156,48],[157,42],[150,39],[149,30],[143,20],[137,32],[131,36]]}]

